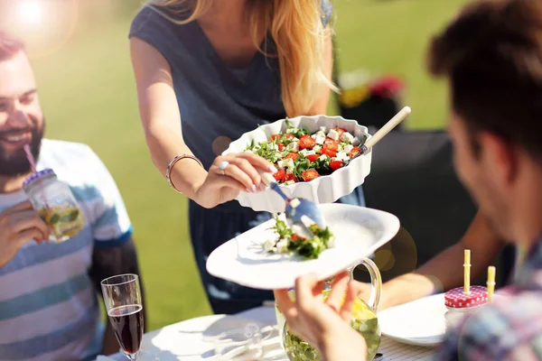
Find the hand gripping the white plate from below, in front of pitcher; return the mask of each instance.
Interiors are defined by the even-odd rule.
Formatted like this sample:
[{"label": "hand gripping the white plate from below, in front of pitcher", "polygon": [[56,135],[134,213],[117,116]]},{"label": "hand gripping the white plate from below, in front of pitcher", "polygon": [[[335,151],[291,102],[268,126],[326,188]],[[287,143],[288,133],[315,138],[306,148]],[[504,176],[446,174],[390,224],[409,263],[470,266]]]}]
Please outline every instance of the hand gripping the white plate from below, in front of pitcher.
[{"label": "hand gripping the white plate from below, in front of pitcher", "polygon": [[318,282],[313,275],[306,275],[295,282],[295,302],[290,300],[286,290],[275,291],[276,303],[285,315],[288,327],[317,347],[325,360],[364,360],[367,354],[365,339],[351,328],[360,283],[349,282],[348,273],[339,274],[334,278],[332,291],[325,302],[322,287],[323,282]]}]

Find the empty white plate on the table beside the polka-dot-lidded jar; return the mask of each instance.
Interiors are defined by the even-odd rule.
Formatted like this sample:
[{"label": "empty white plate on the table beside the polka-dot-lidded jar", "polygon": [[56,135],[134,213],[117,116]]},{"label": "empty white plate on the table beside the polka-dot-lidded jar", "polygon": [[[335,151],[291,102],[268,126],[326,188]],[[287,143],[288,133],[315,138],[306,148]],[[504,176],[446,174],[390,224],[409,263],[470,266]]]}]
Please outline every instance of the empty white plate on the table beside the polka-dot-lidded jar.
[{"label": "empty white plate on the table beside the polka-dot-lidded jar", "polygon": [[435,347],[446,332],[444,293],[378,312],[382,334],[409,345]]}]

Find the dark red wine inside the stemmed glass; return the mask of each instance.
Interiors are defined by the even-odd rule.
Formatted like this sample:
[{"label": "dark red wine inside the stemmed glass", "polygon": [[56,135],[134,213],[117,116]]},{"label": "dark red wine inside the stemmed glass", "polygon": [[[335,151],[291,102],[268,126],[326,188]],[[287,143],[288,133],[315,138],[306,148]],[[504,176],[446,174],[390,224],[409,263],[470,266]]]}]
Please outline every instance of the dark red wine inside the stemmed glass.
[{"label": "dark red wine inside the stemmed glass", "polygon": [[139,352],[143,339],[143,307],[141,305],[119,306],[107,312],[118,343],[126,354]]}]

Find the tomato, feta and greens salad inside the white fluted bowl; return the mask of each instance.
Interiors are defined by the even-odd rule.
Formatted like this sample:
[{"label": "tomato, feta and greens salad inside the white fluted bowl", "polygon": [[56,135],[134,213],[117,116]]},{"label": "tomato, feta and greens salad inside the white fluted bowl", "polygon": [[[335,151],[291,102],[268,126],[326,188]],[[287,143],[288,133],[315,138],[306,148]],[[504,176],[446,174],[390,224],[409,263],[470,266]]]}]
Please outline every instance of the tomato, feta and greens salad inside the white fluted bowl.
[{"label": "tomato, feta and greens salad inside the white fluted bowl", "polygon": [[303,127],[286,121],[285,134],[273,134],[266,142],[248,144],[246,152],[255,153],[275,164],[275,179],[279,184],[290,185],[298,181],[311,181],[342,168],[365,142],[345,129],[335,127],[320,129],[310,134]]}]

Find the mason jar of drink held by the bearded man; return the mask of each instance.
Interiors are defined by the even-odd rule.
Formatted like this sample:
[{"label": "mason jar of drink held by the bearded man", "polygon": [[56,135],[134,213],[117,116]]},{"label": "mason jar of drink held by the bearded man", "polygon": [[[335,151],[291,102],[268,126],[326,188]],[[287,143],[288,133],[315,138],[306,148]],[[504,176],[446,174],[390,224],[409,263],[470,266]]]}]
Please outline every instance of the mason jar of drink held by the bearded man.
[{"label": "mason jar of drink held by the bearded man", "polygon": [[61,243],[77,235],[85,218],[70,186],[51,169],[36,171],[23,182],[23,190],[40,218],[51,227],[49,241]]}]

